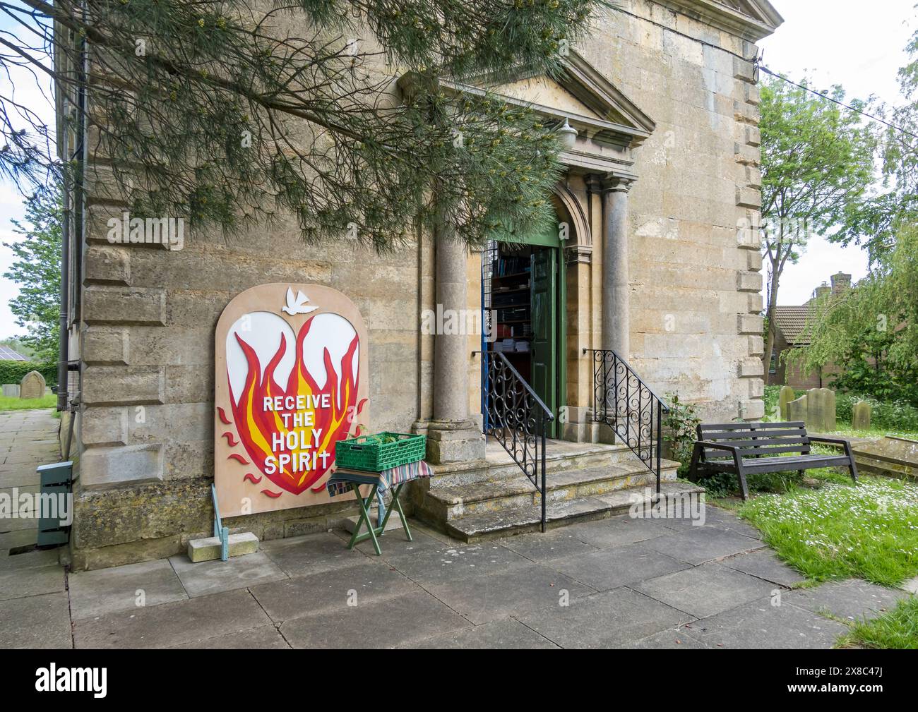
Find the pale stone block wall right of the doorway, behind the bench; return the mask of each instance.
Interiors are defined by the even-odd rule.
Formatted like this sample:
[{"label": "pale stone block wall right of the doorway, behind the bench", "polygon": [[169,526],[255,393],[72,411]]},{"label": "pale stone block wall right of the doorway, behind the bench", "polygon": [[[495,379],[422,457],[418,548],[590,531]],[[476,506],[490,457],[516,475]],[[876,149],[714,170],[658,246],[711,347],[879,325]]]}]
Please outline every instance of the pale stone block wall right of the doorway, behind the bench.
[{"label": "pale stone block wall right of the doorway, behind the bench", "polygon": [[581,53],[655,120],[635,150],[631,357],[711,419],[762,417],[756,46],[630,0]]}]

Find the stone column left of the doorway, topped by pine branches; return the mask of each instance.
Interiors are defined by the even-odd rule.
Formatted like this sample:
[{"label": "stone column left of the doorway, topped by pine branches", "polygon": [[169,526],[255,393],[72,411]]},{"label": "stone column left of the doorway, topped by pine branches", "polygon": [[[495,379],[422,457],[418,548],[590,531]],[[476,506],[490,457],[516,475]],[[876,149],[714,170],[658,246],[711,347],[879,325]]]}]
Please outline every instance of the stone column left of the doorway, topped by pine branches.
[{"label": "stone column left of the doorway, topped by pine branches", "polygon": [[[436,236],[436,301],[443,324],[449,311],[465,323],[468,251],[444,226]],[[435,307],[435,308],[437,308]],[[439,311],[438,309],[438,311]],[[427,457],[433,463],[474,461],[485,457],[485,436],[469,418],[468,371],[471,358],[465,333],[444,334],[438,324],[433,339],[433,419],[427,431]],[[465,331],[465,329],[462,329]]]}]

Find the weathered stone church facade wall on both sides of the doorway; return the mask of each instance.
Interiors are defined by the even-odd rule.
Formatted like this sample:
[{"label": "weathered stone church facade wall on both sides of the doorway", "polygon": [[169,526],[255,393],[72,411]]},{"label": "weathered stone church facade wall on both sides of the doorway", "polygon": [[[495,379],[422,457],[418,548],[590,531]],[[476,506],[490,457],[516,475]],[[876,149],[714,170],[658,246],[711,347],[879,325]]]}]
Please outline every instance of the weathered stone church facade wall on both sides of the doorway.
[{"label": "weathered stone church facade wall on both sides of the doorway", "polygon": [[[579,233],[565,249],[568,439],[597,437],[587,424],[590,372],[579,351],[608,343],[604,299],[616,299],[607,325],[627,323],[614,348],[628,351],[657,393],[677,391],[711,419],[763,414],[752,59],[756,39],[780,18],[763,17],[761,2],[622,5],[595,23],[577,51],[655,128],[633,151],[633,166],[622,163],[633,179],[571,172],[559,187]],[[563,94],[554,98],[573,101]],[[465,369],[467,408],[457,400],[435,403],[437,348],[420,333],[421,312],[435,308],[441,292],[432,236],[415,234],[404,250],[383,257],[346,241],[306,247],[292,222],[232,236],[186,228],[181,251],[112,245],[106,221],[121,207],[107,170],[96,161],[87,176],[71,336],[71,359],[81,362],[74,566],[168,556],[209,533],[214,329],[229,300],[256,284],[327,284],[360,308],[370,335],[373,429],[430,432],[431,420],[464,420],[466,413],[475,422],[479,364],[471,356],[454,366]],[[605,233],[622,239],[604,245]],[[623,258],[615,289],[604,289],[613,274],[604,262]],[[451,264],[461,273],[461,260]],[[479,308],[477,253],[465,260],[465,278],[466,294],[449,298]],[[465,351],[477,346],[470,337]],[[448,450],[451,426],[441,427],[436,437]],[[475,450],[474,440],[465,443]],[[285,510],[229,526],[263,539],[288,537],[329,528],[346,509]]]}]

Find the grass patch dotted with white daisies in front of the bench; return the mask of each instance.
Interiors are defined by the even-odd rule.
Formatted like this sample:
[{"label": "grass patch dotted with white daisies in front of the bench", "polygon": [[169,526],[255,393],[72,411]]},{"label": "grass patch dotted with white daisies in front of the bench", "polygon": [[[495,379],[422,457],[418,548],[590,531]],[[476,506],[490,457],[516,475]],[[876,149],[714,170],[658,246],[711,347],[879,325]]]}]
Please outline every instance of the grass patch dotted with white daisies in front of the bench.
[{"label": "grass patch dotted with white daisies in front of the bench", "polygon": [[819,489],[758,495],[737,514],[813,581],[862,578],[898,586],[918,574],[918,486],[885,477],[809,471]]}]

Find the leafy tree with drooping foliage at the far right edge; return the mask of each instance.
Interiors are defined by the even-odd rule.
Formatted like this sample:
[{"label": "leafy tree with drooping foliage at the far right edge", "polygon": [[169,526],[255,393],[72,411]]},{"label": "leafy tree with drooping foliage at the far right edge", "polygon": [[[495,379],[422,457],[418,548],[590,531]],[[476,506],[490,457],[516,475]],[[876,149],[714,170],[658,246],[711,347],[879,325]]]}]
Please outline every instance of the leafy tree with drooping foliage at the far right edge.
[{"label": "leafy tree with drooping foliage at the far right edge", "polygon": [[811,370],[838,364],[837,387],[918,405],[918,31],[906,51],[911,62],[899,79],[908,101],[882,137],[886,190],[849,206],[834,236],[868,250],[870,273],[844,297],[816,305],[812,343],[791,357]]}]

